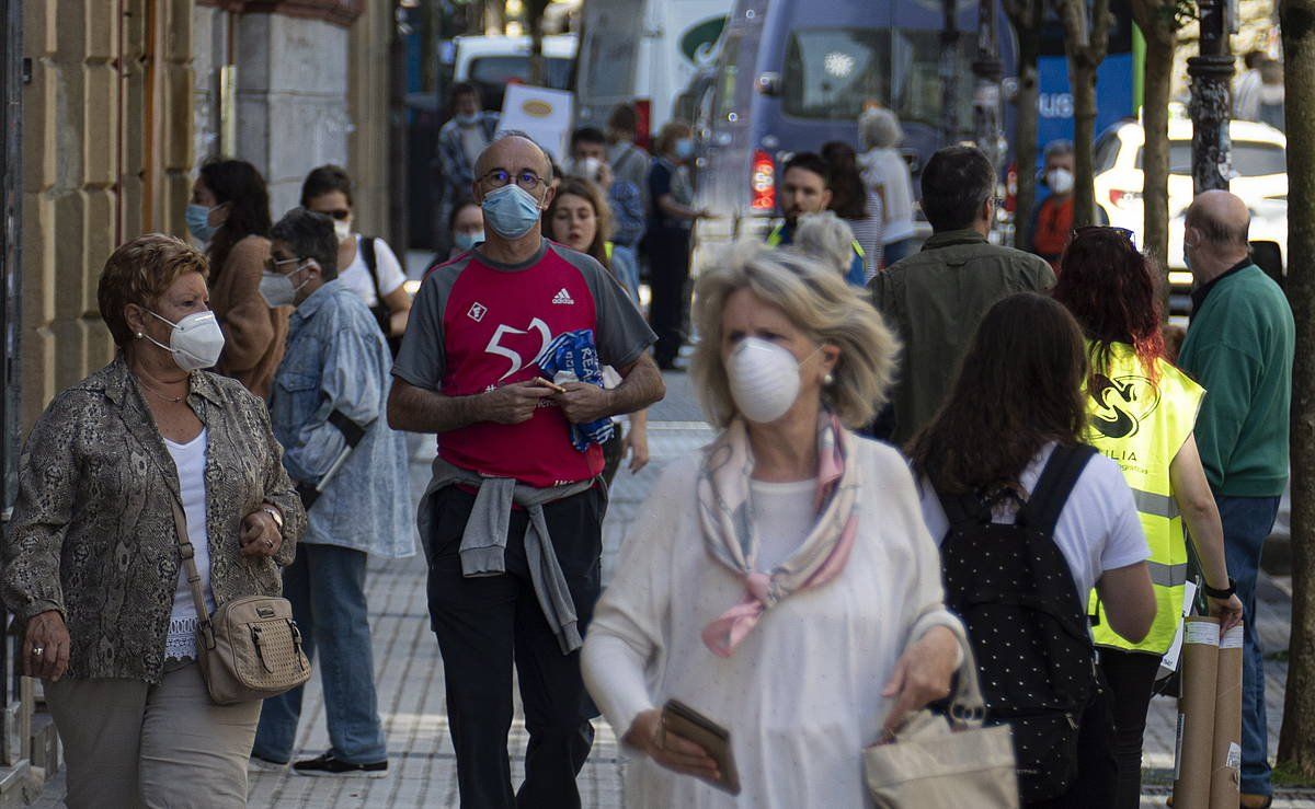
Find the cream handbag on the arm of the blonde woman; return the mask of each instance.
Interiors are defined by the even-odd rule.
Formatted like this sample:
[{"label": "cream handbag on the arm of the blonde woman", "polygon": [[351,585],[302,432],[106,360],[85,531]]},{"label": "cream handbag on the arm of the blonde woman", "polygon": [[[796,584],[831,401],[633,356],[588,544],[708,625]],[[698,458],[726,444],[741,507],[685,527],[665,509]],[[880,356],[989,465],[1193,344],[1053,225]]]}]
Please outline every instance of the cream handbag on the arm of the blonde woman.
[{"label": "cream handbag on the arm of the blonde woman", "polygon": [[1016,809],[1018,775],[1007,725],[984,728],[977,661],[964,665],[949,718],[919,711],[894,739],[863,751],[868,793],[882,809]]}]

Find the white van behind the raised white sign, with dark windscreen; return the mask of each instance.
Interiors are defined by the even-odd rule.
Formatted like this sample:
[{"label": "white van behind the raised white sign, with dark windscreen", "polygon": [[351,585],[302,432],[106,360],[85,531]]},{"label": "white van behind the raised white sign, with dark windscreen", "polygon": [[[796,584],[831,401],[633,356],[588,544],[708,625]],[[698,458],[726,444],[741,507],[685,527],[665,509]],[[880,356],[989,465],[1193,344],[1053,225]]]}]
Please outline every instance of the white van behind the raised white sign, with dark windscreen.
[{"label": "white van behind the raised white sign, with dark windscreen", "polygon": [[[569,89],[579,41],[575,34],[543,38],[544,85]],[[484,109],[502,109],[508,83],[530,80],[529,37],[456,37],[452,79],[480,88]]]}]

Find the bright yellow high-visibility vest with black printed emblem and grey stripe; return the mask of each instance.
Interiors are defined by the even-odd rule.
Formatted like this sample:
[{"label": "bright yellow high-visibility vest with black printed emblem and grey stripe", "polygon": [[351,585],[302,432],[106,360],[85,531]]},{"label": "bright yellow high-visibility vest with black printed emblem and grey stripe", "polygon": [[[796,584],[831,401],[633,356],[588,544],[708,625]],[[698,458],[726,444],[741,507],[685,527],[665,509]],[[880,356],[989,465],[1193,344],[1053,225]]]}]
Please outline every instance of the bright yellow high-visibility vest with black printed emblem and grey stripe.
[{"label": "bright yellow high-visibility vest with black printed emblem and grey stripe", "polygon": [[1156,360],[1157,378],[1152,381],[1126,343],[1110,343],[1106,357],[1098,357],[1097,348],[1097,343],[1088,341],[1088,356],[1098,370],[1094,383],[1088,381],[1086,440],[1119,465],[1132,489],[1151,548],[1156,617],[1145,640],[1130,644],[1110,629],[1105,607],[1098,605],[1093,591],[1090,604],[1101,617],[1093,632],[1099,646],[1164,654],[1182,621],[1187,580],[1187,544],[1169,486],[1169,464],[1195,428],[1206,391],[1164,360]]}]

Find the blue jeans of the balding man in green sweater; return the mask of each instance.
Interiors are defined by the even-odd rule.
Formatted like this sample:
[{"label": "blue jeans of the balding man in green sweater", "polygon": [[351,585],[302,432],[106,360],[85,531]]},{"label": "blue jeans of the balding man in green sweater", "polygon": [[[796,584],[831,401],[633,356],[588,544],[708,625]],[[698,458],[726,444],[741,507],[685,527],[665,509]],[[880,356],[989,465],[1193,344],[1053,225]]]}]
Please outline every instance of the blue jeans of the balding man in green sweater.
[{"label": "blue jeans of the balding man in green sweater", "polygon": [[1274,528],[1278,498],[1215,495],[1224,525],[1224,558],[1237,583],[1245,621],[1241,658],[1241,791],[1270,795],[1269,726],[1265,722],[1265,658],[1256,630],[1256,580],[1260,552]]}]

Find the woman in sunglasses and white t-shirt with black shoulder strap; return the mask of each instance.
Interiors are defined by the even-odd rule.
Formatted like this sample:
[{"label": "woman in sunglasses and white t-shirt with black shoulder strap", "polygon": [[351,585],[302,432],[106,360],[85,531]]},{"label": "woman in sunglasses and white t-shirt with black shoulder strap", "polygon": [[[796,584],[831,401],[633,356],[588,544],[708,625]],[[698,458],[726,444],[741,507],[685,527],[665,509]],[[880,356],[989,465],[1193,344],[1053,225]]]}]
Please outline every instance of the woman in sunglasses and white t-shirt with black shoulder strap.
[{"label": "woman in sunglasses and white t-shirt with black shoulder strap", "polygon": [[301,184],[301,206],[333,218],[338,235],[338,280],[360,295],[375,314],[388,347],[397,356],[412,305],[405,288],[406,272],[387,242],[352,231],[347,171],[331,163],[312,169]]}]

